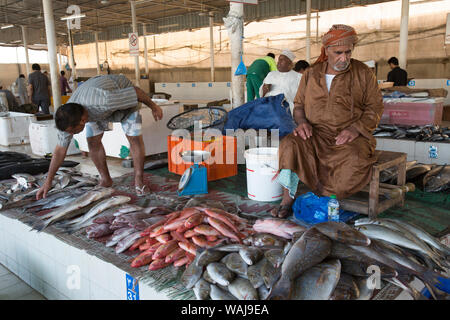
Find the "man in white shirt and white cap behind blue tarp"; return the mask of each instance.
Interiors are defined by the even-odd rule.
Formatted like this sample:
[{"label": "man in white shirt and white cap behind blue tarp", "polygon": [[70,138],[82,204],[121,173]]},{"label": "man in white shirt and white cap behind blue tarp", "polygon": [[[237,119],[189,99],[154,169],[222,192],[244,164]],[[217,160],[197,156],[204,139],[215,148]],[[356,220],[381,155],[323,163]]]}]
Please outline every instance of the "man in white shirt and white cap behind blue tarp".
[{"label": "man in white shirt and white cap behind blue tarp", "polygon": [[261,88],[262,97],[277,96],[283,93],[289,102],[291,114],[294,111],[295,94],[302,78],[300,73],[292,70],[294,59],[295,55],[291,51],[284,50],[278,57],[278,70],[269,72],[264,78]]}]

